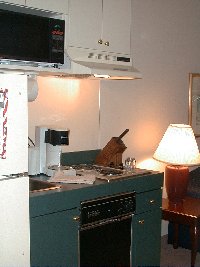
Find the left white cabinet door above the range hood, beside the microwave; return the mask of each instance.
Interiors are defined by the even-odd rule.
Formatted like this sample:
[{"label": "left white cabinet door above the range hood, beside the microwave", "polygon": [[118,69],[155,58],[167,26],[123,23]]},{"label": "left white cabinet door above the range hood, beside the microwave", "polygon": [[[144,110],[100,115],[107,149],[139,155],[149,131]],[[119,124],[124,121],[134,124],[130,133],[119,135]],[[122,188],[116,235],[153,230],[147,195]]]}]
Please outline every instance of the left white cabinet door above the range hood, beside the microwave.
[{"label": "left white cabinet door above the range hood, beside the microwave", "polygon": [[98,49],[101,27],[101,0],[69,1],[69,46]]}]

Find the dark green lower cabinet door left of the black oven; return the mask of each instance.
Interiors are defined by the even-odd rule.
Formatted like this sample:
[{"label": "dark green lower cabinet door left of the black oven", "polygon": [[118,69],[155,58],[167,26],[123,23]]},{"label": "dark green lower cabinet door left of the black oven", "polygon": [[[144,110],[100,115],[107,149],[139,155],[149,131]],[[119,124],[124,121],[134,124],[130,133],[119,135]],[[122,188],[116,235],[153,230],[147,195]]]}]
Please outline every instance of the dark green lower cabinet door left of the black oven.
[{"label": "dark green lower cabinet door left of the black oven", "polygon": [[31,266],[78,266],[78,222],[72,209],[31,218]]}]

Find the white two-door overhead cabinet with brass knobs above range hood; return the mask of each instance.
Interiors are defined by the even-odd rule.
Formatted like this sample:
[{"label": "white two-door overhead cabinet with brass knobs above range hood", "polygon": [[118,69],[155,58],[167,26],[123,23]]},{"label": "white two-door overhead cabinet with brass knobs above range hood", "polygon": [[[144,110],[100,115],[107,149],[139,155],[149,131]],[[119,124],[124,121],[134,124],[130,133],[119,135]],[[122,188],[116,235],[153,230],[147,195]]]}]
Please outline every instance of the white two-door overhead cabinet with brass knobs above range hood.
[{"label": "white two-door overhead cabinet with brass knobs above range hood", "polygon": [[131,0],[69,0],[72,47],[130,54]]}]

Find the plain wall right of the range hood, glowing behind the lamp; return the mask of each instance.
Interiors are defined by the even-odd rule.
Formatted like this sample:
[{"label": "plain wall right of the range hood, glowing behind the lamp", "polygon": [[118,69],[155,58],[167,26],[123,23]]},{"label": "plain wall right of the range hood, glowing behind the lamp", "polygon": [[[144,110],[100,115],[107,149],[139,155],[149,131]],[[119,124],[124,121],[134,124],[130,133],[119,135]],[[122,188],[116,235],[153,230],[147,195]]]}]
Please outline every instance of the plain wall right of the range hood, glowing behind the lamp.
[{"label": "plain wall right of the range hood, glowing behind the lamp", "polygon": [[188,123],[188,73],[200,72],[199,13],[198,0],[133,0],[132,52],[143,79],[101,82],[102,145],[129,128],[124,154],[141,162],[170,123]]}]

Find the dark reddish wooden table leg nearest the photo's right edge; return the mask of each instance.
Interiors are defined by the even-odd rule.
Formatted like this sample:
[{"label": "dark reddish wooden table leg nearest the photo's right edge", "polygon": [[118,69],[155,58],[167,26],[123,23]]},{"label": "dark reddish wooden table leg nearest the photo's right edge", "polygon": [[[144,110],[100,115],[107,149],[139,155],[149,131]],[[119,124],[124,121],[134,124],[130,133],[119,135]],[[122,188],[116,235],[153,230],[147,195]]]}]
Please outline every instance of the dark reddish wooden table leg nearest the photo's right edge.
[{"label": "dark reddish wooden table leg nearest the photo's right edge", "polygon": [[198,249],[198,236],[199,236],[199,229],[198,227],[191,226],[190,227],[190,239],[191,239],[191,266],[195,266],[195,260],[197,255]]}]

